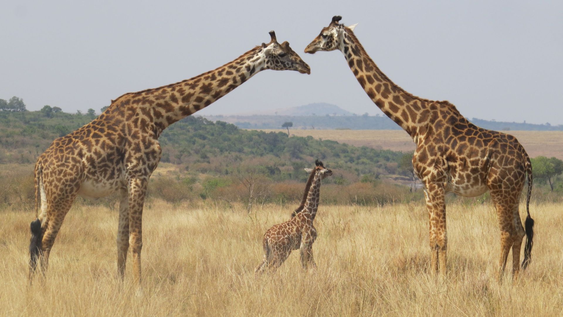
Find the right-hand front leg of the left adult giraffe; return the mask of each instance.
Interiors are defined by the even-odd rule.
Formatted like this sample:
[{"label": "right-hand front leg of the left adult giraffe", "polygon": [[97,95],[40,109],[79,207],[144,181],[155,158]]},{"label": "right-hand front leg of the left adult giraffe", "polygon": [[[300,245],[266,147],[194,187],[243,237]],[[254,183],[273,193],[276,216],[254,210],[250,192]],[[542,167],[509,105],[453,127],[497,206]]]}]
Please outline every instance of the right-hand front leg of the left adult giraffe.
[{"label": "right-hand front leg of the left adult giraffe", "polygon": [[142,209],[148,179],[133,178],[129,180],[129,246],[133,262],[133,279],[141,283],[141,249],[142,249]]}]

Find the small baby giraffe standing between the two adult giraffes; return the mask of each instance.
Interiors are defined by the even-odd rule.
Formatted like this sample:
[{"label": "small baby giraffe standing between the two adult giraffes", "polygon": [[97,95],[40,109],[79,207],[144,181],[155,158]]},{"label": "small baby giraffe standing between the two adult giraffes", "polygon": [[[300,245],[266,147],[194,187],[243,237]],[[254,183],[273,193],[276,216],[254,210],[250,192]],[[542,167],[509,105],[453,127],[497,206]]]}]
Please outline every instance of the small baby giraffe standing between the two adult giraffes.
[{"label": "small baby giraffe standing between the two adult giraffes", "polygon": [[309,264],[316,267],[313,259],[312,246],[316,239],[313,226],[317,208],[319,207],[320,180],[332,175],[332,170],[326,169],[323,162],[316,160],[314,169],[305,169],[309,175],[305,186],[303,199],[288,221],[276,224],[266,234],[262,245],[264,260],[254,272],[262,272],[266,267],[278,268],[293,250],[301,249],[301,265],[307,268]]}]

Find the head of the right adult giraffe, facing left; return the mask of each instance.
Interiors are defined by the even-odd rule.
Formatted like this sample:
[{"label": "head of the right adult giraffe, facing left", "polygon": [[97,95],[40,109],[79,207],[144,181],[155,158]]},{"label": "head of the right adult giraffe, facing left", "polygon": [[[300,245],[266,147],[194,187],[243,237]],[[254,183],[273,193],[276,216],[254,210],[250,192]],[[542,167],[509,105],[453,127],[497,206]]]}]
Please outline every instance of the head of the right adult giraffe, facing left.
[{"label": "head of the right adult giraffe, facing left", "polygon": [[344,24],[338,23],[341,19],[342,16],[333,16],[328,27],[323,28],[320,34],[305,47],[305,52],[314,54],[316,51],[342,50],[346,32],[354,30],[357,24],[345,27]]}]

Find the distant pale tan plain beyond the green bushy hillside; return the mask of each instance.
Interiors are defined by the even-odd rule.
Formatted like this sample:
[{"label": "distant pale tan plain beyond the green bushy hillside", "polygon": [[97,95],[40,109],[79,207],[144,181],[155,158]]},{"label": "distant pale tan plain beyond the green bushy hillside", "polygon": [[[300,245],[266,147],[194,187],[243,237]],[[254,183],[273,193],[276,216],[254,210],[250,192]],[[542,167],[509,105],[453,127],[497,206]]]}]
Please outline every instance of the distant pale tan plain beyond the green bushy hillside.
[{"label": "distant pale tan plain beyond the green bushy hillside", "polygon": [[[262,130],[266,132],[285,131],[284,129]],[[503,131],[514,135],[528,151],[530,157],[539,155],[555,156],[563,160],[563,131]],[[353,146],[367,146],[377,149],[409,152],[416,148],[413,140],[403,130],[289,130],[297,137],[321,138]]]}]

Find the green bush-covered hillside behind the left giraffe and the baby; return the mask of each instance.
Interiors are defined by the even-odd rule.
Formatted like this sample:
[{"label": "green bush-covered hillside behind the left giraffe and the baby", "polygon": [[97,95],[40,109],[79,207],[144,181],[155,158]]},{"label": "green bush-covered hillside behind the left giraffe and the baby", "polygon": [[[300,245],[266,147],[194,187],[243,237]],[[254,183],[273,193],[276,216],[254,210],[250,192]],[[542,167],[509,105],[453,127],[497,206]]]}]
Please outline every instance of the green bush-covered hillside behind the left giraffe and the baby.
[{"label": "green bush-covered hillside behind the left giraffe and the baby", "polygon": [[[95,116],[64,112],[0,112],[0,163],[33,164],[57,137]],[[331,140],[291,137],[238,129],[233,124],[190,116],[160,136],[161,162],[180,164],[197,173],[228,174],[249,164],[272,180],[303,179],[302,168],[316,158],[342,170],[350,181],[362,175],[395,174],[403,153],[354,147]],[[296,171],[300,171],[296,173]]]}]

